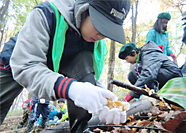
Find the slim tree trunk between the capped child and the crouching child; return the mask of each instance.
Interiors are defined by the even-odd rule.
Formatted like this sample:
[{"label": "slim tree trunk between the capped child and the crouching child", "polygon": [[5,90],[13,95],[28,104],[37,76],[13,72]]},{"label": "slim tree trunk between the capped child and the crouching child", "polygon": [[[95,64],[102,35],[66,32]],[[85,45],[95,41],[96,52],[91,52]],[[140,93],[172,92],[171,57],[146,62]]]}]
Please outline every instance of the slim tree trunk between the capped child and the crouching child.
[{"label": "slim tree trunk between the capped child and the crouching child", "polygon": [[115,63],[115,41],[111,40],[109,64],[108,64],[108,75],[107,75],[107,88],[113,91],[113,85],[109,84],[109,81],[114,77],[114,63]]}]

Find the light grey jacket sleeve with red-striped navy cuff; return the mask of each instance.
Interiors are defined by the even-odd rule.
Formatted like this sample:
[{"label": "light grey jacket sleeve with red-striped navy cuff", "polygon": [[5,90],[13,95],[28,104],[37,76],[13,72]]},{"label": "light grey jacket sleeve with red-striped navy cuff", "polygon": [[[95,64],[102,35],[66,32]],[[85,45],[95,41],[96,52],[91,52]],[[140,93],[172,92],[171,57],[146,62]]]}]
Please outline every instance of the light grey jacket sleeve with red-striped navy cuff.
[{"label": "light grey jacket sleeve with red-striped navy cuff", "polygon": [[[63,98],[62,86],[69,79],[47,67],[49,40],[50,28],[47,19],[41,9],[35,8],[19,32],[10,66],[13,78],[29,93],[39,99],[56,100]],[[71,83],[72,80],[66,86],[69,87]],[[56,95],[56,92],[59,92],[59,95]],[[65,89],[64,95],[68,98],[68,88]]]}]

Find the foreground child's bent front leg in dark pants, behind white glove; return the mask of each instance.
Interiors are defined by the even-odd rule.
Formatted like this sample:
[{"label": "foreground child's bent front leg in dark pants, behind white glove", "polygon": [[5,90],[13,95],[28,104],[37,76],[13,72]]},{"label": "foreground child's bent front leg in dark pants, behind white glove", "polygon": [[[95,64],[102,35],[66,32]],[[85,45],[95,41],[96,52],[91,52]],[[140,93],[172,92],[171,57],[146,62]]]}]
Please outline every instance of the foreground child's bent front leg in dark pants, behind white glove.
[{"label": "foreground child's bent front leg in dark pants, behind white glove", "polygon": [[[69,78],[76,79],[77,81],[90,82],[96,85],[92,52],[80,52],[66,66],[66,68],[63,69],[62,73]],[[87,128],[87,122],[90,120],[92,115],[89,114],[87,110],[75,106],[74,102],[71,100],[67,100],[67,106],[71,133],[83,132]]]}]

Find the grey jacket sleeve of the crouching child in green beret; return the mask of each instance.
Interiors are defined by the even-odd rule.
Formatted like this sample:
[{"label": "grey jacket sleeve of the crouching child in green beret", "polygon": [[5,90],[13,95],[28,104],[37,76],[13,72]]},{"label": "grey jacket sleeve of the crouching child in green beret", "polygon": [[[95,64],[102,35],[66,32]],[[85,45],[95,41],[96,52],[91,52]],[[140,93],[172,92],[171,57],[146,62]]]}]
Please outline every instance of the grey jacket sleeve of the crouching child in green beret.
[{"label": "grey jacket sleeve of the crouching child in green beret", "polygon": [[142,55],[142,70],[135,85],[144,88],[144,85],[148,85],[150,81],[157,78],[158,72],[161,68],[162,62],[159,56],[159,52],[152,52]]}]

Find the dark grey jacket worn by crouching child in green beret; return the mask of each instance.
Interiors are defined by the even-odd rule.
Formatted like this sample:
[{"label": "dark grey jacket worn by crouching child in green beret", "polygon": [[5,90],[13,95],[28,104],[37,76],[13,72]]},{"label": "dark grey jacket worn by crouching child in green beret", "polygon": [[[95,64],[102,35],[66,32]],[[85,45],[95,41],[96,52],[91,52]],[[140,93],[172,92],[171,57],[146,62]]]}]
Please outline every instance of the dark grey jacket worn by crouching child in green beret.
[{"label": "dark grey jacket worn by crouching child in green beret", "polygon": [[182,77],[181,70],[177,64],[166,57],[152,41],[142,46],[139,61],[142,64],[142,70],[135,83],[138,87],[144,87],[149,81],[156,80],[159,72],[167,79],[170,79],[170,77]]}]

